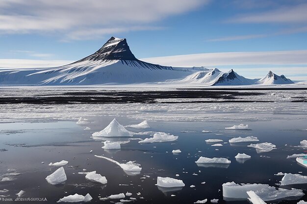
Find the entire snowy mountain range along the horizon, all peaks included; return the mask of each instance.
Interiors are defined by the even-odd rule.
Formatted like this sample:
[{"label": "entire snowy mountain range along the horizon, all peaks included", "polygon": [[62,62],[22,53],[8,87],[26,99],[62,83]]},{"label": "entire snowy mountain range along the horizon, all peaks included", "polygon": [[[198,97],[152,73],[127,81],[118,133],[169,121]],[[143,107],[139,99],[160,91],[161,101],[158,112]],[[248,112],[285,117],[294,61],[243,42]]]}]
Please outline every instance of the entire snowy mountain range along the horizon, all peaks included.
[{"label": "entire snowy mountain range along the horizon, all peaks included", "polygon": [[207,86],[292,84],[284,75],[269,72],[247,79],[231,69],[173,68],[138,60],[127,40],[111,37],[95,53],[69,65],[56,68],[1,69],[0,85],[97,85],[131,83],[191,83]]}]

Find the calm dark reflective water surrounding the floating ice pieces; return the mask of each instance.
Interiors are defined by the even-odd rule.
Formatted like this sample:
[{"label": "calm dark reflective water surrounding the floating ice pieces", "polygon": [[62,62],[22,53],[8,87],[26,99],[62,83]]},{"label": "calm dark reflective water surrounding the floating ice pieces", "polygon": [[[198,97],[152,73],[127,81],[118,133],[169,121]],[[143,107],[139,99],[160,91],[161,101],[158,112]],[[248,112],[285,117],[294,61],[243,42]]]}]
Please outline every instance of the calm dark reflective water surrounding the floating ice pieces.
[{"label": "calm dark reflective water surrounding the floating ice pieces", "polygon": [[[13,198],[14,200],[15,194],[24,190],[26,191],[24,198],[46,197],[48,202],[42,203],[53,204],[64,196],[90,193],[93,197],[91,203],[110,203],[119,202],[119,200],[100,201],[99,196],[105,197],[128,191],[133,194],[131,197],[137,199],[134,203],[140,204],[188,204],[205,198],[208,199],[207,203],[210,203],[211,199],[219,199],[218,203],[220,204],[247,204],[247,201],[224,201],[222,184],[234,181],[236,183],[267,183],[271,186],[277,186],[275,183],[281,181],[282,178],[282,176],[274,176],[278,172],[303,172],[302,175],[307,175],[307,168],[297,164],[295,159],[286,159],[287,155],[303,153],[303,149],[291,147],[291,145],[299,145],[300,141],[307,138],[307,121],[298,115],[293,117],[291,120],[242,121],[241,123],[248,124],[252,129],[245,131],[225,130],[225,127],[238,125],[240,123],[238,121],[151,122],[148,118],[150,129],[128,128],[128,130],[171,133],[179,136],[178,140],[152,144],[139,144],[139,140],[131,140],[129,143],[123,144],[121,150],[116,151],[103,150],[101,141],[93,140],[90,137],[93,132],[100,131],[107,126],[113,119],[111,117],[89,118],[93,122],[85,126],[79,126],[76,122],[70,121],[3,123],[0,124],[0,149],[2,149],[0,152],[0,178],[8,172],[8,169],[10,169],[9,172],[20,173],[20,175],[16,176],[14,181],[0,182],[0,190],[9,190],[6,193],[0,193],[0,195],[9,194],[10,196],[5,198]],[[117,117],[117,120],[123,125],[141,122],[125,117]],[[91,130],[83,130],[86,126]],[[202,133],[202,130],[212,132]],[[234,136],[257,136],[259,142],[272,142],[277,145],[277,149],[257,154],[256,150],[247,147],[246,143],[235,146],[227,143],[222,147],[211,147],[211,144],[205,142],[205,139],[208,138],[219,138],[228,142]],[[135,135],[133,137],[150,136]],[[125,138],[119,139],[125,140]],[[7,151],[3,151],[3,149]],[[180,149],[182,153],[172,154],[172,150],[175,149]],[[90,150],[93,150],[93,153],[90,153]],[[234,158],[237,153],[245,153],[252,158],[244,163],[239,163]],[[94,155],[103,155],[122,163],[135,160],[141,164],[141,174],[128,176],[119,166],[110,161],[96,158]],[[228,168],[225,166],[224,168],[198,166],[195,161],[200,156],[226,157],[231,160],[231,164]],[[65,184],[51,185],[45,178],[58,167],[50,167],[48,164],[62,159],[69,161],[64,166],[67,181]],[[42,164],[42,161],[45,163]],[[96,170],[97,173],[106,177],[108,183],[102,185],[86,180],[84,174],[77,174],[77,172],[82,172],[82,169]],[[176,177],[176,174],[179,174],[179,177]],[[144,175],[150,177],[140,179]],[[175,192],[161,191],[154,185],[157,176],[181,179],[185,183],[185,187]],[[206,183],[201,184],[203,181]],[[196,187],[190,188],[189,186],[192,184]],[[303,189],[304,193],[307,193],[307,184],[286,186],[286,188],[290,187]],[[138,192],[141,195],[137,196]],[[171,194],[176,196],[171,197]],[[144,197],[144,199],[140,197]],[[307,196],[305,195],[300,200],[307,201]],[[282,201],[281,204],[296,204],[298,201]]]}]

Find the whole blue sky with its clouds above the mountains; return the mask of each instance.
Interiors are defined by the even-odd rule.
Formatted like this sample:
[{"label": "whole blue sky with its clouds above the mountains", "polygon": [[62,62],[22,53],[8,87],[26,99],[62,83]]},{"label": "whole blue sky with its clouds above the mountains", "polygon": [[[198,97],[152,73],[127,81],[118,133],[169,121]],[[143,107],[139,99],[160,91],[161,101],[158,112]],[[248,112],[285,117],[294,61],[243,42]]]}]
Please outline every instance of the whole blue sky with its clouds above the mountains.
[{"label": "whole blue sky with its clouds above the mountains", "polygon": [[[307,80],[306,11],[306,0],[1,0],[0,67],[65,64],[115,36],[154,63],[234,68],[251,78],[273,69]],[[201,53],[215,61],[202,55],[193,63],[191,54]],[[159,58],[177,55],[181,64]],[[242,62],[230,59],[238,56]]]}]

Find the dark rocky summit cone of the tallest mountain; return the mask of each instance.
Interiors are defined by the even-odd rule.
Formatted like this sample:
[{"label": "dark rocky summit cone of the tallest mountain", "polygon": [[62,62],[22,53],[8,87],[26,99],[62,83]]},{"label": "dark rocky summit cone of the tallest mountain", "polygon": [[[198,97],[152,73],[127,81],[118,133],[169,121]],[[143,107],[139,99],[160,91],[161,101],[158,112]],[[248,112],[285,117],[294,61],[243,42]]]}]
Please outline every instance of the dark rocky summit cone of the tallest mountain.
[{"label": "dark rocky summit cone of the tallest mountain", "polygon": [[91,60],[137,60],[124,38],[111,37],[97,52],[81,59],[80,61]]}]

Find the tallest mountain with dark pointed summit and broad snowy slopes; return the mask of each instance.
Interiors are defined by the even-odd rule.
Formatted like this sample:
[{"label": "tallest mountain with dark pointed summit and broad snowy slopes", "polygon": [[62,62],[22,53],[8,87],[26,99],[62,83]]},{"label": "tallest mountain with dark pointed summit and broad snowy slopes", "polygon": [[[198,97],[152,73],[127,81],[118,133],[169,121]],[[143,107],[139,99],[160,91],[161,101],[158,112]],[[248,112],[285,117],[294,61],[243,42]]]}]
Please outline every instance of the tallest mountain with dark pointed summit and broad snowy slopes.
[{"label": "tallest mountain with dark pointed summit and broad snowy slopes", "polygon": [[1,85],[92,85],[163,82],[193,69],[176,69],[135,58],[126,39],[111,37],[97,52],[57,68],[0,70]]}]

